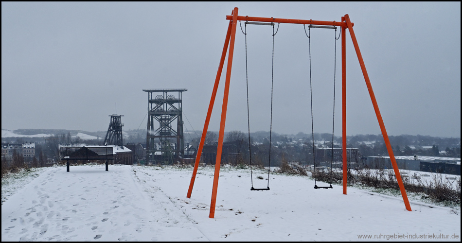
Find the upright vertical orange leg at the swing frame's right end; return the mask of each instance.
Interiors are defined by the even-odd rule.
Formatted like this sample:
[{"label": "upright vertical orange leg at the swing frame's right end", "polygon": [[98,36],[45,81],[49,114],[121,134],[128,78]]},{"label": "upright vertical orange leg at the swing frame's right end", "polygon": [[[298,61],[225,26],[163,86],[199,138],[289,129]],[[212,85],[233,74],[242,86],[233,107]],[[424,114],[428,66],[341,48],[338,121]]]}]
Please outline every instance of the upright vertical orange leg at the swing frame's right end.
[{"label": "upright vertical orange leg at the swing frame's right end", "polygon": [[[342,17],[342,22],[345,18]],[[345,27],[342,28],[342,184],[343,194],[346,195],[347,185],[347,153],[346,153],[346,51],[345,51]]]}]

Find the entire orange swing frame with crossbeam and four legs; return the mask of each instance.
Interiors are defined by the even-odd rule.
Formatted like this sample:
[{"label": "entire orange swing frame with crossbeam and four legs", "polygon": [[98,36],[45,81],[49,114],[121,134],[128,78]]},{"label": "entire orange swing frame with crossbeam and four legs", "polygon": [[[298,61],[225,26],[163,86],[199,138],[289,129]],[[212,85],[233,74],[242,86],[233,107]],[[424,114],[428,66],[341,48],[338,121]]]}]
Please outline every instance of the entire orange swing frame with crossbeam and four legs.
[{"label": "entire orange swing frame with crossbeam and four legs", "polygon": [[209,127],[210,116],[212,114],[213,104],[215,103],[216,91],[218,89],[218,84],[220,82],[221,72],[223,70],[223,65],[225,63],[226,53],[228,52],[229,46],[229,53],[228,53],[228,67],[226,70],[226,79],[225,79],[225,90],[223,95],[223,106],[221,110],[221,121],[220,121],[220,132],[218,136],[218,147],[216,152],[216,161],[215,161],[215,173],[213,176],[213,188],[212,188],[212,200],[210,203],[210,213],[209,218],[214,218],[215,216],[215,203],[216,203],[216,192],[218,189],[218,177],[220,174],[220,164],[221,164],[221,154],[223,149],[223,136],[225,131],[225,121],[226,121],[226,110],[228,107],[228,96],[230,90],[230,80],[231,80],[231,66],[232,66],[232,55],[234,52],[234,39],[236,36],[236,24],[238,20],[244,21],[255,21],[255,22],[270,22],[270,23],[292,23],[292,24],[313,24],[313,25],[325,25],[325,26],[339,26],[341,27],[341,36],[342,36],[342,184],[343,184],[343,194],[347,194],[347,150],[346,150],[346,52],[345,52],[345,41],[346,41],[346,33],[345,30],[348,29],[351,35],[351,39],[353,41],[353,45],[355,47],[356,55],[358,57],[359,65],[361,67],[364,80],[366,81],[366,86],[369,90],[369,95],[371,97],[371,101],[374,107],[375,115],[377,117],[377,121],[380,125],[380,130],[383,135],[383,139],[385,141],[385,145],[388,150],[388,154],[391,159],[391,165],[393,166],[394,173],[396,175],[396,180],[398,181],[399,189],[401,191],[401,195],[403,196],[404,204],[408,211],[412,211],[409,205],[408,195],[406,194],[406,190],[404,189],[403,180],[401,178],[401,174],[398,170],[398,165],[396,164],[396,160],[391,150],[390,139],[388,138],[387,130],[385,129],[385,125],[383,123],[382,116],[380,115],[380,110],[377,105],[377,101],[375,100],[374,92],[371,86],[371,81],[369,80],[369,76],[367,74],[366,66],[364,65],[364,61],[362,59],[361,52],[359,51],[359,46],[356,41],[355,32],[353,31],[353,23],[350,21],[350,17],[345,15],[341,17],[341,21],[316,21],[316,20],[301,20],[301,19],[286,19],[286,18],[273,18],[273,17],[249,17],[249,16],[238,16],[237,15],[238,8],[234,8],[231,12],[231,16],[226,16],[227,20],[230,20],[228,25],[228,32],[225,38],[225,45],[223,46],[223,52],[221,54],[220,65],[218,67],[218,71],[216,73],[215,78],[215,85],[213,86],[212,97],[210,98],[209,109],[207,111],[207,117],[205,119],[204,129],[202,130],[202,137],[200,139],[199,147],[197,149],[197,155],[195,158],[194,170],[193,175],[191,177],[191,183],[189,185],[187,197],[191,198],[191,193],[193,191],[194,181],[197,173],[197,168],[199,166],[200,156],[202,154],[202,148],[204,147],[204,140],[207,135],[207,129]]}]

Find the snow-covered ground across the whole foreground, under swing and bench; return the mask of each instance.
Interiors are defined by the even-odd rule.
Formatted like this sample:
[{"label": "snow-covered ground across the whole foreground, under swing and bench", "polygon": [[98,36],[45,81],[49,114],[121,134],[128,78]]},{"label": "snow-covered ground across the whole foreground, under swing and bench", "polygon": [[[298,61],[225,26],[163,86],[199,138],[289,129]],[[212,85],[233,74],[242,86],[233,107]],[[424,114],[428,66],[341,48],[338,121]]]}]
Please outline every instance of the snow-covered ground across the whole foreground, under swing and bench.
[{"label": "snow-covered ground across the whole foreground, under swing and bench", "polygon": [[[191,168],[70,170],[50,167],[27,179],[2,179],[2,241],[460,242],[461,237],[460,209],[411,201],[409,212],[401,197],[355,188],[343,195],[335,185],[315,190],[308,177],[271,174],[270,191],[250,191],[248,170],[223,168],[211,219],[212,168],[199,168],[191,199],[186,197]],[[254,187],[266,187],[259,175],[267,177],[254,173]]]}]

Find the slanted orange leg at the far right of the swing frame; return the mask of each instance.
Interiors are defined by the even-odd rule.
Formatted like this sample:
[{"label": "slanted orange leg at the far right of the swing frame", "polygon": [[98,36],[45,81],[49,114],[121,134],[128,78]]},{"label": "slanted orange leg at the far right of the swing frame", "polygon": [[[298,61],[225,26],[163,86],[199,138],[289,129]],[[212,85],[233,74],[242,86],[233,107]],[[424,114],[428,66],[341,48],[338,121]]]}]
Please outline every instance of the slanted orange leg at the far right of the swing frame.
[{"label": "slanted orange leg at the far right of the swing frame", "polygon": [[347,22],[348,30],[350,31],[353,45],[355,46],[356,55],[358,56],[359,65],[361,66],[361,70],[364,75],[364,79],[366,81],[367,89],[369,90],[369,95],[371,96],[372,104],[375,110],[375,115],[377,116],[377,121],[380,125],[380,130],[382,131],[383,139],[385,140],[385,145],[387,146],[388,155],[390,156],[391,165],[393,166],[393,170],[396,175],[396,180],[398,181],[399,190],[401,191],[401,195],[403,196],[406,209],[408,211],[412,211],[409,205],[408,195],[406,194],[406,190],[404,189],[404,184],[401,178],[401,174],[399,174],[398,165],[396,164],[396,160],[394,158],[393,150],[391,150],[391,145],[390,145],[390,140],[388,139],[387,130],[385,129],[385,125],[383,124],[383,120],[382,120],[382,115],[380,115],[380,110],[378,108],[377,101],[375,100],[375,95],[374,95],[374,91],[372,90],[371,81],[369,80],[369,76],[367,75],[366,66],[364,65],[361,52],[359,51],[359,46],[356,41],[355,32],[353,32],[353,27],[351,26],[350,17],[348,15],[345,15],[345,20]]}]

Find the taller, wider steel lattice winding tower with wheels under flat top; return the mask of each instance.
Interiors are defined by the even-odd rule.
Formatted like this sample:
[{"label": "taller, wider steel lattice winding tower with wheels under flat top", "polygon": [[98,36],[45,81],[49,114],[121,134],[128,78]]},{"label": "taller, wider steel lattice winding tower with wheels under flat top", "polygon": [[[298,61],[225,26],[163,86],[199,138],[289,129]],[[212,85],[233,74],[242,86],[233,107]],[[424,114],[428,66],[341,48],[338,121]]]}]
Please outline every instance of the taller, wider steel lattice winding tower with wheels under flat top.
[{"label": "taller, wider steel lattice winding tower with wheels under flat top", "polygon": [[[146,164],[173,164],[184,155],[182,89],[143,89],[148,93],[148,120],[146,132]],[[178,92],[175,97],[169,92]],[[161,93],[154,97],[153,93]],[[177,120],[177,128],[172,124]],[[159,127],[154,128],[154,121]],[[172,146],[170,139],[176,139]],[[156,144],[157,142],[157,144]]]}]

